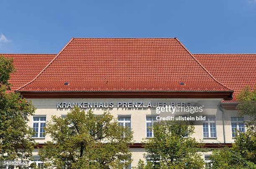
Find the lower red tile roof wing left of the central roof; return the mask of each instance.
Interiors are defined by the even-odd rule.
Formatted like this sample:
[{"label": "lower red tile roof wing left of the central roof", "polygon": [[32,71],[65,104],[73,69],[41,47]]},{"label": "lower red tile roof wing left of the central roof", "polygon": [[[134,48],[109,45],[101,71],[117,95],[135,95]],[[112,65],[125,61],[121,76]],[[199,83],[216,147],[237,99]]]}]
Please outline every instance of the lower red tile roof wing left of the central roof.
[{"label": "lower red tile roof wing left of the central roof", "polygon": [[16,90],[22,85],[33,80],[41,70],[56,56],[56,54],[0,54],[5,57],[13,57],[16,72],[11,74],[11,90]]}]

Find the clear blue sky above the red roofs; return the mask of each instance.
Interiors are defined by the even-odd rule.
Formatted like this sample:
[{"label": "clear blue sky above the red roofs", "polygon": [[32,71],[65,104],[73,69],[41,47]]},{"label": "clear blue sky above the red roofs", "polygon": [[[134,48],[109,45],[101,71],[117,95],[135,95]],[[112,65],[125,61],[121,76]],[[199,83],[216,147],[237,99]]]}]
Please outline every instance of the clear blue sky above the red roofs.
[{"label": "clear blue sky above the red roofs", "polygon": [[178,37],[192,53],[256,53],[256,0],[1,0],[0,53],[72,37]]}]

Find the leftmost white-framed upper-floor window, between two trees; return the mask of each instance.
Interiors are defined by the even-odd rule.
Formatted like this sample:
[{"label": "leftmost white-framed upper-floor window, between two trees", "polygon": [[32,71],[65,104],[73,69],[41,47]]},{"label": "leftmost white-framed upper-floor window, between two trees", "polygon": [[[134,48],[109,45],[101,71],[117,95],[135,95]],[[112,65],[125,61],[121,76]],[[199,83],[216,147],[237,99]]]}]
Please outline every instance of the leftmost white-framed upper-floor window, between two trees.
[{"label": "leftmost white-framed upper-floor window, between two trees", "polygon": [[34,138],[45,137],[46,116],[33,116],[33,129],[36,132]]}]

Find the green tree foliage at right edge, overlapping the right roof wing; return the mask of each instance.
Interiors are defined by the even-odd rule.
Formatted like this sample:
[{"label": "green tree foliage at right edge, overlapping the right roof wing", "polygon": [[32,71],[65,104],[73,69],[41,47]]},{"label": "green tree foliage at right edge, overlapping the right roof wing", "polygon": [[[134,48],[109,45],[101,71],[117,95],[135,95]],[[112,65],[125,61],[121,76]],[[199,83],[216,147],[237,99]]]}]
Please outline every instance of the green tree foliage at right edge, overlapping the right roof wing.
[{"label": "green tree foliage at right edge, overlapping the right roof wing", "polygon": [[256,168],[256,89],[245,87],[237,96],[240,115],[249,116],[246,132],[238,132],[233,147],[215,150],[210,156],[213,169]]}]

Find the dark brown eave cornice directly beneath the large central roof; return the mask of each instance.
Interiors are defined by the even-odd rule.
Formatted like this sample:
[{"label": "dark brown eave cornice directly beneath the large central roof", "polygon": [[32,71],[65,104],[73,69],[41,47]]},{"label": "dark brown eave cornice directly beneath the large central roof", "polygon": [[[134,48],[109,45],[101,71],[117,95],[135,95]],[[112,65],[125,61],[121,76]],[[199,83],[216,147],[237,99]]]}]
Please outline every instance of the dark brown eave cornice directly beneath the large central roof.
[{"label": "dark brown eave cornice directly beneath the large central roof", "polygon": [[221,98],[233,91],[16,91],[28,99],[43,98]]}]

